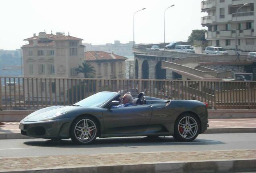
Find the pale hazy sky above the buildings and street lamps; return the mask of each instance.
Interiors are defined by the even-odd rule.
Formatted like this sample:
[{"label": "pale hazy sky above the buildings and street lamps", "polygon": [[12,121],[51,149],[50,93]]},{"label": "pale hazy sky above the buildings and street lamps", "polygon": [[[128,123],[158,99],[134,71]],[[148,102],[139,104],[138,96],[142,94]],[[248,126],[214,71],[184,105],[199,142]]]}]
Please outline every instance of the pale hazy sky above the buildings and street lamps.
[{"label": "pale hazy sky above the buildings and street lamps", "polygon": [[201,0],[1,0],[0,49],[28,43],[34,33],[70,32],[84,43],[106,44],[187,40],[201,26]]}]

